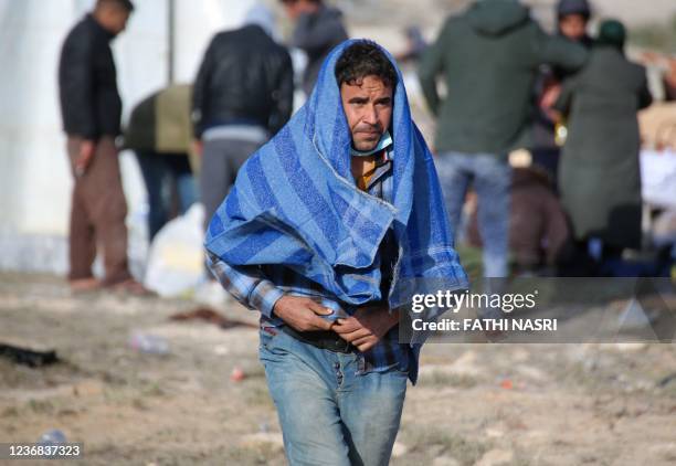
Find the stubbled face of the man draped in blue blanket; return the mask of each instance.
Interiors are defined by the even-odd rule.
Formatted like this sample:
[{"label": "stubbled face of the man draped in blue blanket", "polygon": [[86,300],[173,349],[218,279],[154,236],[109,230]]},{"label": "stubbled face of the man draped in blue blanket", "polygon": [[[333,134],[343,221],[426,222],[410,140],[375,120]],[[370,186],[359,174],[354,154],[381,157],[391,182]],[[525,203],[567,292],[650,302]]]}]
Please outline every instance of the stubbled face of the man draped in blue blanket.
[{"label": "stubbled face of the man draped in blue blanket", "polygon": [[340,86],[342,109],[352,134],[352,147],[373,149],[392,119],[392,86],[378,76],[365,76]]}]

